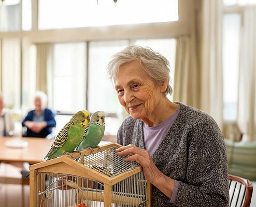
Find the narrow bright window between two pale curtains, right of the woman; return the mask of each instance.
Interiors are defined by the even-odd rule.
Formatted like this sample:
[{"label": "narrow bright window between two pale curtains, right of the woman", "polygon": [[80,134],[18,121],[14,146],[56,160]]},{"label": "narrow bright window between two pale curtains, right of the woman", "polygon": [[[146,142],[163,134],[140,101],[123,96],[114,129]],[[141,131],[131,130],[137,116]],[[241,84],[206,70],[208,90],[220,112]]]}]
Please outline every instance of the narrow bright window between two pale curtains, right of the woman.
[{"label": "narrow bright window between two pale curtains, right of the woman", "polygon": [[223,118],[234,121],[237,116],[239,70],[240,14],[223,17]]}]

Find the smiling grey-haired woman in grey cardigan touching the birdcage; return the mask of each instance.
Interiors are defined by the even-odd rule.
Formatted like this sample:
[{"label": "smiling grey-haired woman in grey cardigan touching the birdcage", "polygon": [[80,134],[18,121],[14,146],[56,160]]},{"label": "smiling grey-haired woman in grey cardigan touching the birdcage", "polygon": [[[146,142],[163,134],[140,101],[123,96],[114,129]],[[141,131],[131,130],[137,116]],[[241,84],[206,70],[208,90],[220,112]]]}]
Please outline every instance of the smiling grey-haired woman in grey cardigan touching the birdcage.
[{"label": "smiling grey-haired woman in grey cardigan touching the birdcage", "polygon": [[227,158],[221,131],[208,114],[170,101],[169,63],[150,48],[112,56],[108,75],[130,114],[117,142],[152,184],[152,206],[228,206]]}]

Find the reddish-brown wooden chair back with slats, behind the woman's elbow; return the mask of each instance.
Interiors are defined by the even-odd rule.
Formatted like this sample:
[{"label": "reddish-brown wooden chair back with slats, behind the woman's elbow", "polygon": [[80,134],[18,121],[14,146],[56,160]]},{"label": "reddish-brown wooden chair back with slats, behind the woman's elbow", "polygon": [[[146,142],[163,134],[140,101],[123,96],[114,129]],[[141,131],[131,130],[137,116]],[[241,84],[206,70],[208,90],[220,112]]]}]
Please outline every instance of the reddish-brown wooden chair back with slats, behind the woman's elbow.
[{"label": "reddish-brown wooden chair back with slats, behind the woman's elbow", "polygon": [[252,197],[252,183],[248,179],[229,174],[230,207],[249,207]]}]

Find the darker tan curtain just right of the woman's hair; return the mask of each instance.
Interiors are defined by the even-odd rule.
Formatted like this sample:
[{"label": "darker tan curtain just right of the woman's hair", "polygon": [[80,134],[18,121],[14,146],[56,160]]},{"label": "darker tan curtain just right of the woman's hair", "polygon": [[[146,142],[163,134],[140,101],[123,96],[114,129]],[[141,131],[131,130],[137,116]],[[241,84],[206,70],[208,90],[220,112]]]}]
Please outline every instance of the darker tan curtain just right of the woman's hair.
[{"label": "darker tan curtain just right of the woman's hair", "polygon": [[201,71],[198,65],[200,60],[200,1],[194,2],[194,18],[191,18],[191,35],[177,38],[175,75],[174,75],[174,101],[200,109]]}]

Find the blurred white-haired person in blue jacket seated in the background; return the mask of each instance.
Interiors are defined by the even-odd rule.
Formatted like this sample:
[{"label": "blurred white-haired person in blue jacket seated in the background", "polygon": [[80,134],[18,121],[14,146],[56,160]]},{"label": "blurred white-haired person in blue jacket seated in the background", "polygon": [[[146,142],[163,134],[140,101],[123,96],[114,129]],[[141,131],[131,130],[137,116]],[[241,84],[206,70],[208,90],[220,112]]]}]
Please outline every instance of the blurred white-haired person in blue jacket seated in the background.
[{"label": "blurred white-haired person in blue jacket seated in the background", "polygon": [[26,137],[47,137],[56,126],[55,114],[46,108],[47,95],[37,91],[34,97],[35,109],[27,113],[22,126],[27,127]]}]

